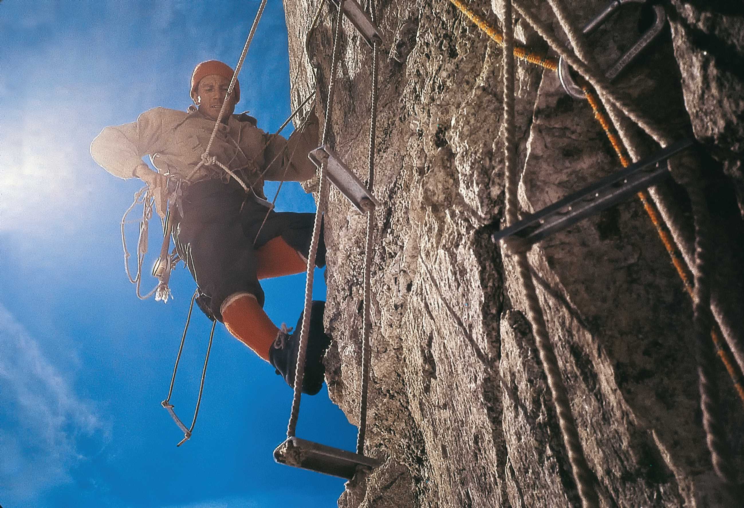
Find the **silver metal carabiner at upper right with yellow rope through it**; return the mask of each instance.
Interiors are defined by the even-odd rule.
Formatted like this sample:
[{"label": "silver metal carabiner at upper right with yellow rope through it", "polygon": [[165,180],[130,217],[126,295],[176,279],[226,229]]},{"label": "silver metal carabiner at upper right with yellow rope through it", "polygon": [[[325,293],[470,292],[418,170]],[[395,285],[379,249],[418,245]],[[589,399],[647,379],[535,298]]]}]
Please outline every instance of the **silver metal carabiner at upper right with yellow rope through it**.
[{"label": "silver metal carabiner at upper right with yellow rope through it", "polygon": [[[607,21],[609,16],[612,16],[612,14],[615,13],[615,10],[623,7],[623,5],[645,4],[646,2],[647,0],[614,0],[611,4],[605,7],[602,12],[595,16],[594,19],[587,23],[582,33],[584,35],[589,35],[593,31],[597,30],[597,28],[600,28],[600,26]],[[615,77],[618,77],[618,74],[623,72],[623,69],[625,69],[632,60],[635,60],[635,57],[637,57],[638,54],[641,53],[641,51],[643,51],[644,48],[646,48],[646,46],[656,38],[656,36],[658,36],[658,34],[661,34],[661,29],[664,28],[664,23],[667,22],[667,15],[664,13],[664,7],[661,7],[661,5],[654,5],[652,8],[656,18],[654,24],[641,36],[640,39],[638,39],[638,41],[635,42],[632,48],[626,51],[626,53],[615,62],[615,65],[606,72],[605,76],[607,77],[607,80],[612,81]],[[568,64],[563,60],[563,57],[560,57],[558,60],[558,77],[563,89],[568,95],[577,99],[586,99],[583,90],[576,84],[574,78],[571,77],[570,69]]]}]

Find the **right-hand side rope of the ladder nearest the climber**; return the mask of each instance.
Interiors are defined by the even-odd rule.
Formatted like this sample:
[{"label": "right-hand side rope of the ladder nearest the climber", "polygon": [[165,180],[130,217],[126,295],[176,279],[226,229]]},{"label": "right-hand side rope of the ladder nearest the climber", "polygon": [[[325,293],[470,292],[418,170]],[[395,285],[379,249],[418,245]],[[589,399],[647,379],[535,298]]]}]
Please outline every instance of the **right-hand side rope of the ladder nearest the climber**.
[{"label": "right-hand side rope of the ladder nearest the climber", "polygon": [[[376,24],[374,0],[370,0],[370,16]],[[370,111],[370,142],[368,152],[367,188],[370,194],[374,188],[374,150],[377,131],[377,41],[372,45],[372,91]],[[372,241],[374,233],[375,209],[367,211],[367,235],[365,238],[364,269],[364,327],[362,328],[362,392],[359,396],[359,431],[356,434],[356,453],[365,453],[365,436],[367,434],[367,392],[370,377],[370,335],[371,323],[371,278],[372,278]]]}]

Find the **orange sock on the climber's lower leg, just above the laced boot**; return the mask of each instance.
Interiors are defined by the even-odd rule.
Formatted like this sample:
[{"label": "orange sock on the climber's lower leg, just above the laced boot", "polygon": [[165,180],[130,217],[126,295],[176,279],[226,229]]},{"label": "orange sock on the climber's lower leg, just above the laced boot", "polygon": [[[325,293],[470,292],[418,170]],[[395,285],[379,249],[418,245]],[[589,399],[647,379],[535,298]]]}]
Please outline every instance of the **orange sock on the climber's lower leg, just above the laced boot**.
[{"label": "orange sock on the climber's lower leg, just above the laced boot", "polygon": [[277,338],[277,328],[263,311],[255,296],[250,293],[236,293],[222,304],[222,321],[225,328],[237,340],[269,361],[269,349]]}]

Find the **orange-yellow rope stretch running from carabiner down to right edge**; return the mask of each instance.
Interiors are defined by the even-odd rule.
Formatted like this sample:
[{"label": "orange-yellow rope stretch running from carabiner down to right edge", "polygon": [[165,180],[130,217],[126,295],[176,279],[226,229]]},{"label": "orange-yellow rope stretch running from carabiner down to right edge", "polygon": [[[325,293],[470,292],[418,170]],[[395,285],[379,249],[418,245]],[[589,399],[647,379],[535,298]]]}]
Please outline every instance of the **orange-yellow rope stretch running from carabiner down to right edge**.
[{"label": "orange-yellow rope stretch running from carabiner down to right edge", "polygon": [[[589,86],[583,86],[582,89],[584,91],[584,95],[586,95],[586,98],[589,101],[589,104],[591,105],[591,109],[594,110],[594,118],[597,118],[597,121],[599,121],[600,125],[605,131],[610,144],[612,144],[612,147],[615,148],[615,152],[618,153],[620,164],[623,165],[623,168],[627,168],[630,165],[630,161],[624,153],[623,145],[621,144],[620,139],[618,139],[618,136],[612,131],[609,121],[600,109],[597,97],[594,95],[594,93],[591,92]],[[673,241],[670,238],[667,230],[664,229],[664,226],[661,225],[661,220],[659,220],[656,209],[652,206],[649,197],[646,194],[646,191],[638,192],[638,199],[640,199],[641,203],[643,203],[646,213],[648,214],[651,222],[656,228],[656,232],[658,233],[659,238],[661,238],[661,243],[664,244],[664,248],[666,248],[667,253],[669,253],[672,264],[676,268],[679,278],[682,279],[684,290],[687,292],[688,295],[690,295],[690,298],[693,298],[693,285],[690,282],[690,276],[688,276],[687,271],[684,270],[684,264],[682,264],[682,260],[680,260],[679,255],[677,255],[677,251],[674,247]],[[731,381],[734,382],[734,388],[737,390],[739,398],[742,399],[742,401],[744,402],[744,384],[742,384],[742,376],[739,375],[739,373],[737,372],[737,369],[734,366],[734,362],[731,361],[731,356],[728,354],[728,351],[723,348],[721,336],[719,335],[715,327],[711,329],[711,339],[713,339],[713,344],[716,346],[716,353],[718,353],[719,358],[721,358],[723,365],[728,371],[728,375],[731,376]]]}]

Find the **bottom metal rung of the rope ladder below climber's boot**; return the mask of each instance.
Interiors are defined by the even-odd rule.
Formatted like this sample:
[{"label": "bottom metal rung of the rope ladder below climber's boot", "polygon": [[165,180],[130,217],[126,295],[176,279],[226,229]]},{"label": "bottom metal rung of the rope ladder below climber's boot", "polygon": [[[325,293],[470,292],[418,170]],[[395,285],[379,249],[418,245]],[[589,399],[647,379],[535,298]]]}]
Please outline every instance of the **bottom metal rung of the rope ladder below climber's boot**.
[{"label": "bottom metal rung of the rope ladder below climber's boot", "polygon": [[286,466],[307,469],[351,480],[359,468],[374,469],[379,460],[350,451],[289,437],[274,451],[274,460]]}]

